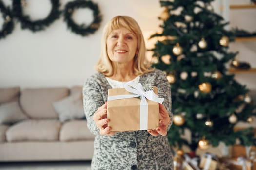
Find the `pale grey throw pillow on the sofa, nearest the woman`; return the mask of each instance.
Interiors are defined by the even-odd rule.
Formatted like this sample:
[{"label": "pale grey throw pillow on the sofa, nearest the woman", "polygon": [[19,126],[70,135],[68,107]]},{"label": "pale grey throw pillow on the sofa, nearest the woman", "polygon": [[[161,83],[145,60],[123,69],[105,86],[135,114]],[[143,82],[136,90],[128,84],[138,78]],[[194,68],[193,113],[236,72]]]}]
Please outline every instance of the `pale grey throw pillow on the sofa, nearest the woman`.
[{"label": "pale grey throw pillow on the sofa, nearest the woman", "polygon": [[82,88],[71,88],[70,96],[60,101],[53,102],[53,107],[58,113],[61,122],[85,118],[82,102]]}]

